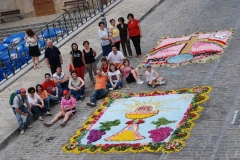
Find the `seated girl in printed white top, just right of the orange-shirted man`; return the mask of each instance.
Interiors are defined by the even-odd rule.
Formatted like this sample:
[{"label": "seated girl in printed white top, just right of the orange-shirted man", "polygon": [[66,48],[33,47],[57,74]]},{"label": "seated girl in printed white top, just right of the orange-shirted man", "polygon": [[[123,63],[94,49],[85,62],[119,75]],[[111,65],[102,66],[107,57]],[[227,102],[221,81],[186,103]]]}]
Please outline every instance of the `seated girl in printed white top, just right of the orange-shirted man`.
[{"label": "seated girl in printed white top, just right of the orange-shirted man", "polygon": [[113,63],[109,65],[108,79],[110,81],[107,83],[109,90],[120,89],[122,87],[121,73]]}]

